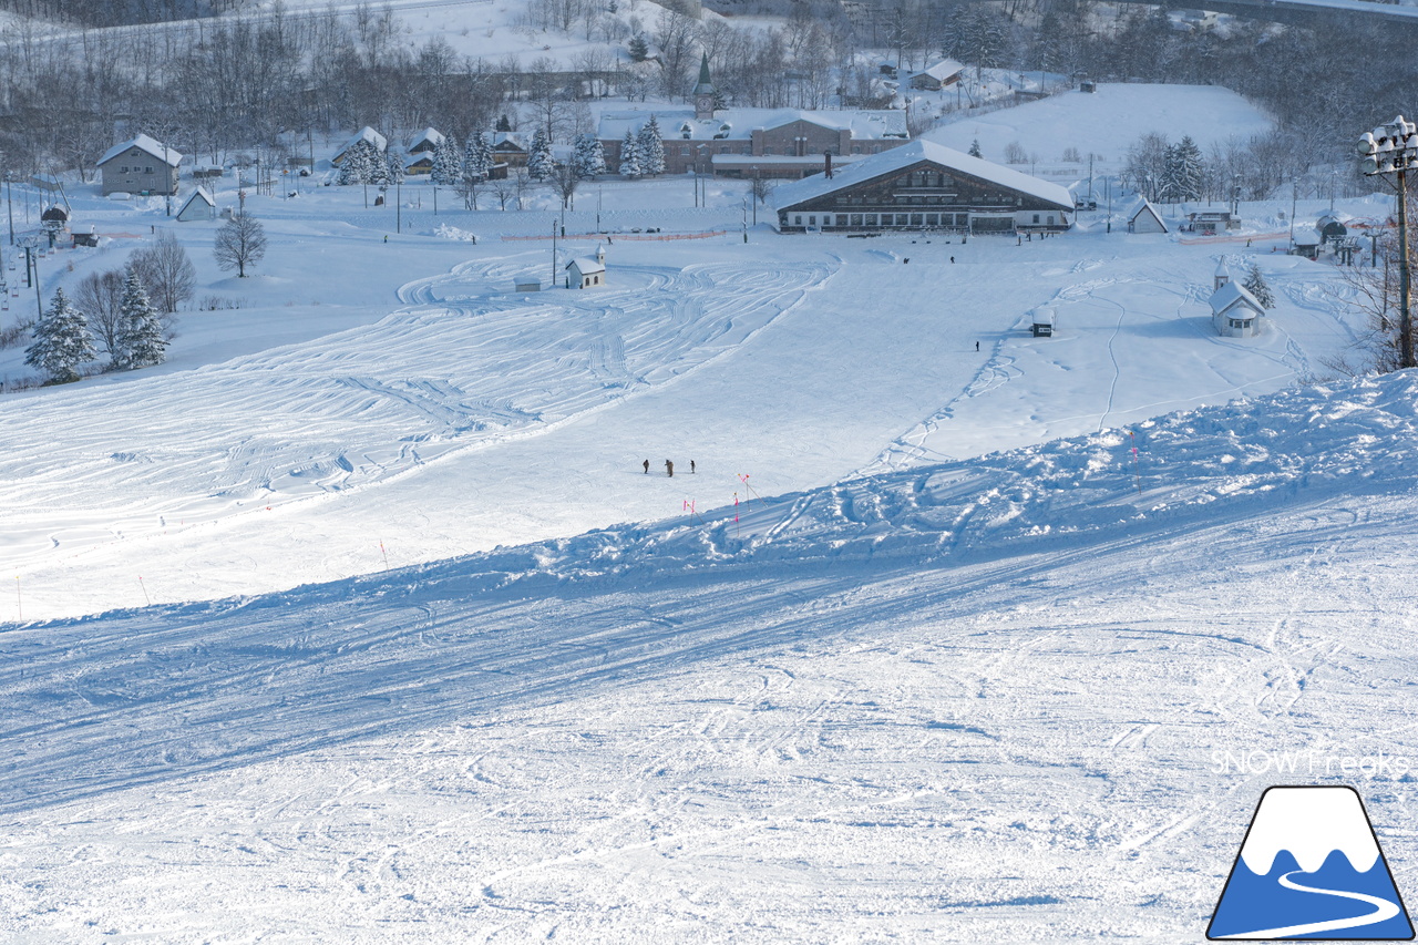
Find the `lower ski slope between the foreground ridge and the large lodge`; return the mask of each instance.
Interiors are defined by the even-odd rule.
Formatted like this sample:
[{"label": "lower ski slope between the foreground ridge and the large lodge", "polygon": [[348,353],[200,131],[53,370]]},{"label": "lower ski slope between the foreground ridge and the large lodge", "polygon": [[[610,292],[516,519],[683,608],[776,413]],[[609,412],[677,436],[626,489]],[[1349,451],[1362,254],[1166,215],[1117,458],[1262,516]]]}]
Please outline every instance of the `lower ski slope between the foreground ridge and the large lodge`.
[{"label": "lower ski slope between the foreground ridge and the large lodge", "polygon": [[[484,240],[374,324],[7,397],[0,560],[18,595],[0,613],[286,589],[1276,390],[1354,316],[1330,267],[1269,247],[759,230],[620,240],[608,289],[515,294],[550,247]],[[370,250],[326,257],[326,278],[387,253]],[[1210,326],[1227,254],[1283,299],[1259,339]],[[1059,333],[1035,339],[1044,304]],[[698,472],[659,475],[666,458]]]}]

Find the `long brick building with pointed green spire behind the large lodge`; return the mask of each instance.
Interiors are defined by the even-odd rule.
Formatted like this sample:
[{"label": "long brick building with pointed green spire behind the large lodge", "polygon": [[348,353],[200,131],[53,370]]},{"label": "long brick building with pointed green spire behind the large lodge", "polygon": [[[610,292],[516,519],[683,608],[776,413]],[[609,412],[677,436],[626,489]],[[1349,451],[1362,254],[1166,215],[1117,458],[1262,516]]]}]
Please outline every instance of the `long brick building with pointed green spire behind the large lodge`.
[{"label": "long brick building with pointed green spire behind the large lodge", "polygon": [[910,140],[906,114],[896,109],[716,109],[708,58],[700,58],[693,98],[693,109],[603,112],[596,138],[605,153],[607,172],[620,173],[625,133],[638,135],[652,115],[665,145],[666,175],[699,172],[795,180],[821,172],[827,163],[824,155],[842,160],[876,155]]}]

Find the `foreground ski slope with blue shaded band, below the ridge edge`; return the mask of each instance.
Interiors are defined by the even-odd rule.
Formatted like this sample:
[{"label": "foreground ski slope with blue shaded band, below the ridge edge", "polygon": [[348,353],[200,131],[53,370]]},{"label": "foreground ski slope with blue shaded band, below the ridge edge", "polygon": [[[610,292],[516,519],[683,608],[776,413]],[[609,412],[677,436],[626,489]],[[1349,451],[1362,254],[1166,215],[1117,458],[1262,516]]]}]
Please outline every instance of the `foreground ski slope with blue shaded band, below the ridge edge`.
[{"label": "foreground ski slope with blue shaded band, below the ridge edge", "polygon": [[1201,941],[1296,782],[1411,887],[1418,379],[1136,434],[10,626],[0,931]]}]

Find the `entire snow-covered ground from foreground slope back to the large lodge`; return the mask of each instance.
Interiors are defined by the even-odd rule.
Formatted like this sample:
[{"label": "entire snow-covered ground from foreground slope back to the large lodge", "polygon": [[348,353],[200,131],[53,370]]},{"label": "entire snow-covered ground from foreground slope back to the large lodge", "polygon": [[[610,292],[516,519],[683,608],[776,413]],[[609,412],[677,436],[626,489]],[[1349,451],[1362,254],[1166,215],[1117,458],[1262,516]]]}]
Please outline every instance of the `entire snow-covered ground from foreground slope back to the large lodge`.
[{"label": "entire snow-covered ground from foreground slope back to the large lodge", "polygon": [[237,280],[74,194],[45,297],[173,226],[240,308],[0,396],[0,939],[1200,941],[1302,782],[1412,885],[1418,380],[1299,383],[1361,315],[1282,206],[744,241],[607,183],[608,288],[532,295],[546,194],[448,196],[252,196]]}]

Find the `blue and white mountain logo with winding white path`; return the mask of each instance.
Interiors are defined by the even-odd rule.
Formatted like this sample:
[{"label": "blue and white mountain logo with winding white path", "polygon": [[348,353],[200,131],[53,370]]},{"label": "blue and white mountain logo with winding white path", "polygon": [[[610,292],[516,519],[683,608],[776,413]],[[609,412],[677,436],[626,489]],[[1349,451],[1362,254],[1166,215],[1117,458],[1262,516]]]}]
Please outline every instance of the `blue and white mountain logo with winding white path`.
[{"label": "blue and white mountain logo with winding white path", "polygon": [[1208,939],[1409,941],[1408,910],[1353,788],[1268,788]]}]

